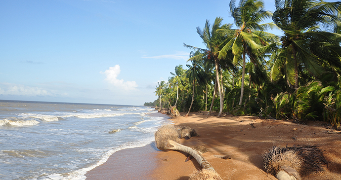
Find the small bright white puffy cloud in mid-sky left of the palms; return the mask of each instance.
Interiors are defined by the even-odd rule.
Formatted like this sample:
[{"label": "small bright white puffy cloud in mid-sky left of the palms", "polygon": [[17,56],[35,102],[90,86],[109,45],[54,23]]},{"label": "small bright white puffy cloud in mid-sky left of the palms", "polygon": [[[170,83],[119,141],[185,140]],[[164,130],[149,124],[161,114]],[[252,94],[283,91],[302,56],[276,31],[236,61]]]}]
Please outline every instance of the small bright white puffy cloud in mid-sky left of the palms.
[{"label": "small bright white puffy cloud in mid-sky left of the palms", "polygon": [[123,79],[117,79],[117,76],[121,73],[119,65],[110,67],[109,70],[105,70],[105,72],[100,73],[104,73],[106,75],[105,80],[116,87],[122,88],[124,90],[133,90],[137,87],[135,81],[124,81]]}]

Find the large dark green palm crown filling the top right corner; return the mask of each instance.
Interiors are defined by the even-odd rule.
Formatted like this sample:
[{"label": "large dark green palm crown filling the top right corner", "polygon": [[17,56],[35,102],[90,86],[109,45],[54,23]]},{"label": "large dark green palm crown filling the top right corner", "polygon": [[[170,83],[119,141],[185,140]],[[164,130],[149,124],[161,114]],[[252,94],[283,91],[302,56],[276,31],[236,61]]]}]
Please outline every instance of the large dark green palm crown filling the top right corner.
[{"label": "large dark green palm crown filling the top right corner", "polygon": [[322,32],[321,23],[337,20],[341,2],[318,0],[275,0],[272,19],[284,31],[282,47],[271,69],[271,80],[285,74],[287,83],[296,89],[304,71],[317,77],[324,72],[323,63],[341,66],[340,35]]}]

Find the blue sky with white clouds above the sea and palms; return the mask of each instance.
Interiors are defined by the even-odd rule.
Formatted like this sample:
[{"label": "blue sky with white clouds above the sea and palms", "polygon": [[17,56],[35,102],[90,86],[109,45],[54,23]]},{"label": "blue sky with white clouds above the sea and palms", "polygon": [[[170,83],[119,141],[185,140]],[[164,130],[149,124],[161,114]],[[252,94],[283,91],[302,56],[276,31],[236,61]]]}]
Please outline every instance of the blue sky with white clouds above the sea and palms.
[{"label": "blue sky with white clouds above the sea and palms", "polygon": [[234,23],[229,2],[1,0],[0,100],[153,102],[158,82],[186,68],[183,43],[205,48],[196,27]]}]

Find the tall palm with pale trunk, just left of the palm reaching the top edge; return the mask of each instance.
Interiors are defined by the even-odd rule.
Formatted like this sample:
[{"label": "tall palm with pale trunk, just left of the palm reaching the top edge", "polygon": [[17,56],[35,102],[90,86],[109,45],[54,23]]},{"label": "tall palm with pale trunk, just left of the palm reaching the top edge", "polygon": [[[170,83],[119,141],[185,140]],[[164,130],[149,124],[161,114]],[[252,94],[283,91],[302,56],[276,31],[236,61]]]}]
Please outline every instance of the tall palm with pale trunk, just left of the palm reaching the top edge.
[{"label": "tall palm with pale trunk, just left of the palm reaching the top edge", "polygon": [[218,55],[219,55],[220,50],[224,47],[226,42],[229,40],[226,34],[219,32],[218,30],[228,30],[231,28],[230,24],[221,25],[222,20],[223,19],[221,17],[215,18],[212,28],[208,20],[206,20],[205,27],[203,30],[197,27],[197,33],[203,39],[203,42],[206,45],[206,49],[184,44],[185,47],[195,49],[201,52],[200,54],[191,57],[188,61],[200,60],[200,59],[203,59],[204,57],[207,57],[207,60],[214,63],[215,78],[216,78],[215,82],[217,83],[217,85],[214,86],[214,91],[218,90],[219,98],[220,98],[220,110],[219,110],[218,116],[221,115],[222,110],[223,110],[223,94],[222,94],[222,88],[219,82],[219,72],[220,72],[219,63],[220,63],[220,60],[224,58],[224,57],[221,57],[218,59]]}]

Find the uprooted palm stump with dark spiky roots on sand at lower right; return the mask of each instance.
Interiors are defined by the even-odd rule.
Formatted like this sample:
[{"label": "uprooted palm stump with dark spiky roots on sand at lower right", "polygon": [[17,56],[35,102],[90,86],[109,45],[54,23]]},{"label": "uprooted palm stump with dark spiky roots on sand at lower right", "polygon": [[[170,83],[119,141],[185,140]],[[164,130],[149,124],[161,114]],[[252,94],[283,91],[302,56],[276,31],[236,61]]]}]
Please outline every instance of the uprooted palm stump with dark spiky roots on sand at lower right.
[{"label": "uprooted palm stump with dark spiky roots on sand at lower right", "polygon": [[327,161],[316,146],[272,147],[263,154],[264,168],[278,180],[300,180],[300,174],[324,171]]}]

